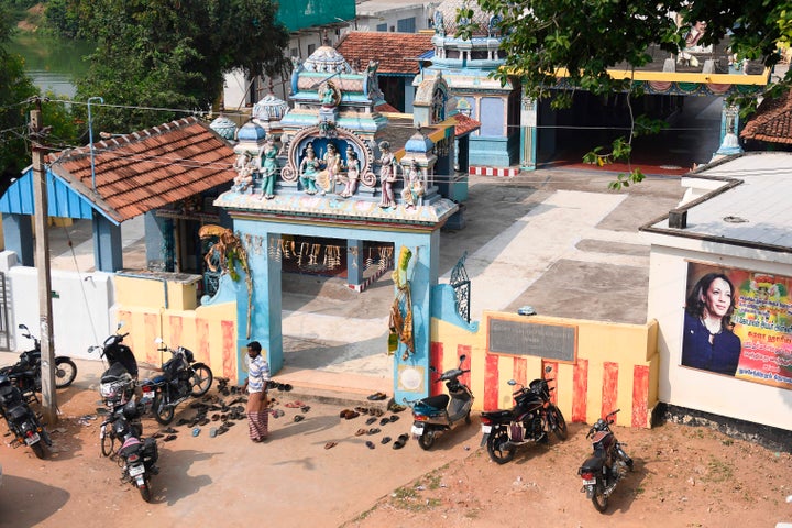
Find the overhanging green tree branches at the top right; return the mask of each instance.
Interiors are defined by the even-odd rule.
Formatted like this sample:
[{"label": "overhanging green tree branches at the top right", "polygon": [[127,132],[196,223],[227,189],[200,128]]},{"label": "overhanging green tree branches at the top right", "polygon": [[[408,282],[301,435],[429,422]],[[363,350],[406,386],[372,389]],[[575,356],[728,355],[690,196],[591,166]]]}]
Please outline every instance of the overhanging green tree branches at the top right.
[{"label": "overhanging green tree branches at the top right", "polygon": [[[728,35],[737,58],[761,61],[768,67],[780,59],[778,45],[792,41],[792,9],[778,0],[479,0],[479,4],[501,18],[501,47],[508,51],[495,76],[502,80],[518,76],[526,95],[534,98],[549,97],[560,69],[568,72],[571,85],[593,94],[635,92],[631,79],[614,79],[607,69],[620,64],[645,66],[651,61],[647,51],[652,45],[678,53],[684,47],[688,28],[696,21],[707,23],[700,44],[717,43]],[[458,21],[473,19],[469,6],[458,11]],[[460,35],[470,36],[471,30],[462,24]],[[791,79],[788,74],[785,82]],[[735,102],[747,112],[755,99]],[[556,108],[570,103],[571,92],[553,99]],[[642,124],[647,130],[657,127]],[[634,132],[641,130],[634,128]],[[619,139],[609,154],[592,153],[588,160],[602,162],[614,153],[628,158],[630,143],[631,136]],[[641,177],[634,172],[622,182],[629,185]]]}]

